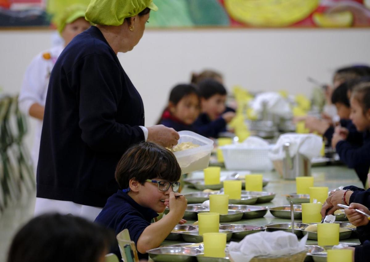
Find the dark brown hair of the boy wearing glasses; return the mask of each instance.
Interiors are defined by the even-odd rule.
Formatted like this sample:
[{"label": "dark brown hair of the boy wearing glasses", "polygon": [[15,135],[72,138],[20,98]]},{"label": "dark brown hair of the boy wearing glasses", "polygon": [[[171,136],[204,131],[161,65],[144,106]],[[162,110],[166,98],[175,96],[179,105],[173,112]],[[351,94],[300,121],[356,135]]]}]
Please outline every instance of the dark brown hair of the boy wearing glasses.
[{"label": "dark brown hair of the boy wearing glasses", "polygon": [[152,142],[140,142],[131,146],[121,157],[115,171],[120,189],[129,188],[132,178],[143,185],[145,180],[156,177],[171,182],[178,181],[181,168],[171,151]]}]

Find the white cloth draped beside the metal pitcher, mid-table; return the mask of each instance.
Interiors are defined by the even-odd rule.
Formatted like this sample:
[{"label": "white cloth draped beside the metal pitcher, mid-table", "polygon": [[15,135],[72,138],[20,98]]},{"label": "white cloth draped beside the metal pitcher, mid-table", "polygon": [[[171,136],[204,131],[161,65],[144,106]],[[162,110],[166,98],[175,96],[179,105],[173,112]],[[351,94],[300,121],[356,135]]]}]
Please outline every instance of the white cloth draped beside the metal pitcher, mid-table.
[{"label": "white cloth draped beside the metal pitcher, mid-table", "polygon": [[270,150],[269,157],[271,160],[282,160],[285,157],[283,145],[286,142],[290,143],[290,157],[295,156],[297,153],[303,154],[310,160],[313,157],[320,156],[322,137],[314,134],[286,133],[279,136],[275,146]]}]

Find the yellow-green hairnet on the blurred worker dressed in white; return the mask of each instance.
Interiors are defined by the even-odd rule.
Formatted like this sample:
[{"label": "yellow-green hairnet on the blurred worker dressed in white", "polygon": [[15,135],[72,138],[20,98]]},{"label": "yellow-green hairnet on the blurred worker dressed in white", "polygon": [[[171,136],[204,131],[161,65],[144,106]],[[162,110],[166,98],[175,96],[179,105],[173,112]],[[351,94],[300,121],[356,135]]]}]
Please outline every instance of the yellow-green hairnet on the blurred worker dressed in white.
[{"label": "yellow-green hairnet on the blurred worker dressed in white", "polygon": [[66,24],[70,24],[80,17],[85,17],[86,6],[74,4],[65,8],[53,18],[54,24],[57,26],[58,32],[61,34]]}]

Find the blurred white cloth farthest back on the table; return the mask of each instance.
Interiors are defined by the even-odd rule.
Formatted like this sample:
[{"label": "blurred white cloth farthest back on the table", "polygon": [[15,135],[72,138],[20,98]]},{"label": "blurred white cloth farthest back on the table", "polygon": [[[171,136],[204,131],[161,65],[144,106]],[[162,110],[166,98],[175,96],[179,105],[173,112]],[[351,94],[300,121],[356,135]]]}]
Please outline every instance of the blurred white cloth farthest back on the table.
[{"label": "blurred white cloth farthest back on the table", "polygon": [[270,113],[284,117],[292,115],[289,102],[276,92],[263,92],[256,95],[256,98],[250,102],[250,106],[255,112],[261,112],[264,102],[267,103],[267,110]]}]

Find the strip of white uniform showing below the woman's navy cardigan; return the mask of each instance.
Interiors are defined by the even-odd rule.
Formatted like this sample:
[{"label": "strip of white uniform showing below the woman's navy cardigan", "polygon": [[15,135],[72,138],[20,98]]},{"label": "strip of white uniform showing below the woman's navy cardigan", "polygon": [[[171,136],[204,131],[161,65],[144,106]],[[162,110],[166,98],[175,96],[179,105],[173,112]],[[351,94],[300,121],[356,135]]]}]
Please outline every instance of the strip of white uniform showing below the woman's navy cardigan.
[{"label": "strip of white uniform showing below the woman's navy cardigan", "polygon": [[94,221],[102,209],[101,207],[76,204],[72,201],[37,197],[34,216],[47,213],[60,213],[62,215],[72,214],[76,217],[83,217],[87,220]]}]

